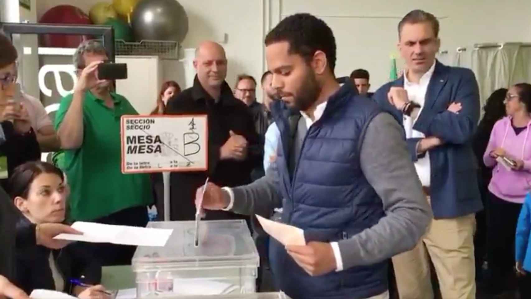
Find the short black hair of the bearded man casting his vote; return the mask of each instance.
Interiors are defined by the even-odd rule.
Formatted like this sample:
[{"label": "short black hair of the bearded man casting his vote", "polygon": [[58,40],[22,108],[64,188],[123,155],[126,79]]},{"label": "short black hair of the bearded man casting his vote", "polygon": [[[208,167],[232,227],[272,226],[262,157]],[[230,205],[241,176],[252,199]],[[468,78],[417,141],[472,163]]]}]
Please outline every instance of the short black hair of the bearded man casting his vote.
[{"label": "short black hair of the bearded man casting his vote", "polygon": [[336,67],[336,39],[332,29],[323,20],[309,13],[297,13],[287,16],[265,36],[264,44],[287,41],[289,53],[301,55],[310,62],[316,51],[327,56],[332,74]]}]

